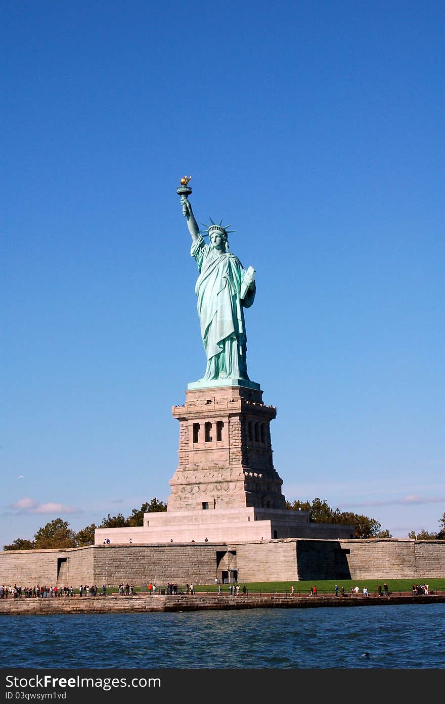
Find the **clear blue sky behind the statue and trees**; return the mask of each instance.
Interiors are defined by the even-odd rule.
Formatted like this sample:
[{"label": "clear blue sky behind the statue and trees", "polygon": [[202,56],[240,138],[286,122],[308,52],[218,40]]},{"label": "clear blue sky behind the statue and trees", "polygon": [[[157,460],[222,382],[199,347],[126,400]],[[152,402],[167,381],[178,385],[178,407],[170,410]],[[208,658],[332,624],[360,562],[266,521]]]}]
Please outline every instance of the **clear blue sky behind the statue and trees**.
[{"label": "clear blue sky behind the statue and trees", "polygon": [[184,174],[257,271],[286,498],[436,531],[443,5],[17,1],[1,25],[0,546],[168,499],[206,362]]}]

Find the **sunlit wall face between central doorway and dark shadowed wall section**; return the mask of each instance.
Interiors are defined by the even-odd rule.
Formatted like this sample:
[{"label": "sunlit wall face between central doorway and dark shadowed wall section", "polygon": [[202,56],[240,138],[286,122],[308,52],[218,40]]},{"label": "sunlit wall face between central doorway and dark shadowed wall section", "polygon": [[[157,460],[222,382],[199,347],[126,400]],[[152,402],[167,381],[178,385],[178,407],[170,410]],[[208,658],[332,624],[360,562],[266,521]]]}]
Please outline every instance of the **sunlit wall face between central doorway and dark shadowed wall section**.
[{"label": "sunlit wall face between central doorway and dark shadowed wall section", "polygon": [[237,543],[238,582],[286,582],[297,580],[296,540]]}]

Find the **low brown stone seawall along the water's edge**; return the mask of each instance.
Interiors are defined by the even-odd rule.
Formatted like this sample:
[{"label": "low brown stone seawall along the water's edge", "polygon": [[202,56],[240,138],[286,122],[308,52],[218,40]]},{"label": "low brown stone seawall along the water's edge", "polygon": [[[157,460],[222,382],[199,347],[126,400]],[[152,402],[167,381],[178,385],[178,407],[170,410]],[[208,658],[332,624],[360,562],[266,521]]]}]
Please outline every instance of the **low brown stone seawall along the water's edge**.
[{"label": "low brown stone seawall along the water's edge", "polygon": [[344,608],[400,604],[445,603],[445,594],[421,596],[289,596],[248,594],[156,595],[72,598],[11,598],[0,600],[0,615],[53,615],[85,613],[149,613],[184,611],[230,611],[256,608]]}]

